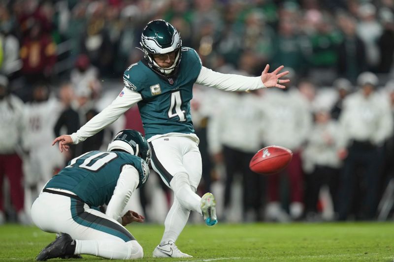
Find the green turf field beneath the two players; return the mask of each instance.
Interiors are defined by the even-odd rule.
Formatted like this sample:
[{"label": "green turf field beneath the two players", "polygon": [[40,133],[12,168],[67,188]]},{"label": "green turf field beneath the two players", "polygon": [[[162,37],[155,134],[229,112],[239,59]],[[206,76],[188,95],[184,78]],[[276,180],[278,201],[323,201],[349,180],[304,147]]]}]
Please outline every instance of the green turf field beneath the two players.
[{"label": "green turf field beneath the two players", "polygon": [[[152,258],[163,226],[131,225],[128,229],[144,248],[141,261],[394,261],[394,223],[191,225],[177,245],[193,259]],[[34,227],[0,226],[0,261],[34,261],[54,237]]]}]

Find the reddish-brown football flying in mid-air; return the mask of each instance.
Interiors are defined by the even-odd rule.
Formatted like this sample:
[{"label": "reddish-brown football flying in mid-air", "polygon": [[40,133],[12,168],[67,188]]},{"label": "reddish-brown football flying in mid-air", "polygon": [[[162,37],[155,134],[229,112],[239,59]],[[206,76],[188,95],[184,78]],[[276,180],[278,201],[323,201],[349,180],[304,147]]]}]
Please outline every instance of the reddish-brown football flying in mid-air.
[{"label": "reddish-brown football flying in mid-air", "polygon": [[293,152],[286,147],[267,146],[252,157],[249,168],[258,174],[274,174],[285,169],[292,158]]}]

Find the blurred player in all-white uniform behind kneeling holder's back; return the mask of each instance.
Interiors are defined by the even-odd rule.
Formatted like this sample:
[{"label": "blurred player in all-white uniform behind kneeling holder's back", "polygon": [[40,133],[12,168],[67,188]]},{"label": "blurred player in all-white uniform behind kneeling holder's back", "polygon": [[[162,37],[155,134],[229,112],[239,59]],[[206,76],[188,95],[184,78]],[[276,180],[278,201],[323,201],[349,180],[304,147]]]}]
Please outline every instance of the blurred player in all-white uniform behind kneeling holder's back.
[{"label": "blurred player in all-white uniform behind kneeling holder's back", "polygon": [[[64,158],[58,150],[49,146],[55,137],[53,127],[62,111],[62,104],[51,95],[44,83],[33,88],[33,101],[25,107],[26,129],[24,139],[29,154],[24,158],[26,204],[31,206],[40,189],[64,166]],[[50,114],[49,114],[50,112]]]}]

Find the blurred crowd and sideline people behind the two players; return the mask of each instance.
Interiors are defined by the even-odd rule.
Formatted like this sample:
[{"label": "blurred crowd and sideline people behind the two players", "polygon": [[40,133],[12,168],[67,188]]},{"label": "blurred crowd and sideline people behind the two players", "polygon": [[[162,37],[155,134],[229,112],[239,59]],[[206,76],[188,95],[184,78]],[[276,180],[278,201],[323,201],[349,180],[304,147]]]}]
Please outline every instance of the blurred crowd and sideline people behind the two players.
[{"label": "blurred crowd and sideline people behind the two players", "polygon": [[[0,224],[29,224],[32,201],[68,160],[105,150],[123,128],[143,131],[132,108],[64,154],[51,146],[117,95],[154,19],[170,22],[215,71],[257,76],[269,63],[291,72],[285,90],[195,86],[199,192],[218,192],[222,221],[392,215],[394,1],[2,0]],[[270,145],[291,149],[292,162],[281,174],[254,174],[250,159]],[[150,180],[139,202],[154,221],[152,191],[166,202],[171,195]]]}]

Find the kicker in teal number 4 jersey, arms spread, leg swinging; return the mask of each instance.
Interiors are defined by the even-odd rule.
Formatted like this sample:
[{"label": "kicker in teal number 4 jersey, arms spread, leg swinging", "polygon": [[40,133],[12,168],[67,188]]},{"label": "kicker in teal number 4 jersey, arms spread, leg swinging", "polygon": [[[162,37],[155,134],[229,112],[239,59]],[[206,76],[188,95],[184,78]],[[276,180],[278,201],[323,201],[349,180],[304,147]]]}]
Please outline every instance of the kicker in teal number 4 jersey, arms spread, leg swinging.
[{"label": "kicker in teal number 4 jersey, arms spread, leg swinging", "polygon": [[215,199],[211,193],[200,198],[195,192],[202,164],[198,137],[194,134],[190,100],[194,83],[228,91],[247,91],[263,87],[284,88],[279,80],[288,71],[283,66],[268,73],[267,65],[260,77],[245,77],[214,72],[201,64],[195,50],[182,47],[178,31],[164,20],[147,24],[141,36],[144,59],[131,64],[123,75],[124,88],[102,112],[76,133],[63,135],[60,151],[93,136],[138,104],[145,136],[152,150],[152,168],[175,194],[164,222],[164,234],[153,251],[154,257],[190,258],[175,241],[185,227],[190,211],[203,215],[208,226],[217,223]]}]

